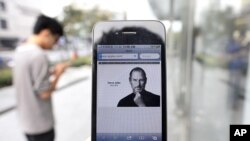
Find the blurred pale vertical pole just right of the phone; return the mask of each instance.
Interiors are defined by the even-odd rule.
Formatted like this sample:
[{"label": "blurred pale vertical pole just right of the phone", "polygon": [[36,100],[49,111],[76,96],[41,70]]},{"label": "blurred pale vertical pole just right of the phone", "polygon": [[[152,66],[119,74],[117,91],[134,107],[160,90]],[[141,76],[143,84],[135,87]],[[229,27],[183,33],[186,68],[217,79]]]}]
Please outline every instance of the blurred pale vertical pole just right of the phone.
[{"label": "blurred pale vertical pole just right of the phone", "polygon": [[193,50],[193,30],[194,30],[194,9],[195,0],[186,0],[183,5],[183,36],[181,48],[181,74],[180,74],[180,99],[183,102],[183,112],[185,118],[184,140],[191,141],[192,136],[192,50]]}]

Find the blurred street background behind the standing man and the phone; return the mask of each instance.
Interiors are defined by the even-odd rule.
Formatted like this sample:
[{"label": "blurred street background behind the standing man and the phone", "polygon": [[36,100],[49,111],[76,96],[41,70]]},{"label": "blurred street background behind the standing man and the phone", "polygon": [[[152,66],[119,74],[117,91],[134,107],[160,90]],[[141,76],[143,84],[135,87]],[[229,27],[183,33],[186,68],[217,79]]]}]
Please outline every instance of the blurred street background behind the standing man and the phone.
[{"label": "blurred street background behind the standing man and the phone", "polygon": [[230,124],[250,124],[250,0],[0,0],[1,141],[25,141],[11,68],[40,13],[65,27],[51,64],[77,58],[53,96],[57,141],[90,136],[91,31],[103,20],[166,26],[169,141],[228,141]]}]

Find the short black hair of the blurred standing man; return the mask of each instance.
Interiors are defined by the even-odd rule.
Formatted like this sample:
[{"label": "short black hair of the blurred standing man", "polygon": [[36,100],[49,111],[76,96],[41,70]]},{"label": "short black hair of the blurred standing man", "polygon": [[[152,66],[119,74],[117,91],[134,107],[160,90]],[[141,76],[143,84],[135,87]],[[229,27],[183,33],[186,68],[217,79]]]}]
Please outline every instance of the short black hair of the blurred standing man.
[{"label": "short black hair of the blurred standing man", "polygon": [[42,30],[48,29],[54,35],[63,35],[63,26],[55,19],[40,15],[33,28],[34,34],[39,34]]}]

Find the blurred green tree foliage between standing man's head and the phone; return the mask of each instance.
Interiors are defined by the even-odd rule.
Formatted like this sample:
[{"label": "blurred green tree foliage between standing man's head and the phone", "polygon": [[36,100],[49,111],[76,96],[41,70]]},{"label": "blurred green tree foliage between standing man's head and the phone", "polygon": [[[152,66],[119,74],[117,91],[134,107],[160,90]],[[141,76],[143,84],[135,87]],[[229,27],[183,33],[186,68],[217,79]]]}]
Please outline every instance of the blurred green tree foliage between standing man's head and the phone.
[{"label": "blurred green tree foliage between standing man's head and the phone", "polygon": [[110,20],[113,14],[109,11],[93,9],[79,9],[74,5],[64,8],[63,24],[65,32],[71,36],[89,35],[98,21]]}]

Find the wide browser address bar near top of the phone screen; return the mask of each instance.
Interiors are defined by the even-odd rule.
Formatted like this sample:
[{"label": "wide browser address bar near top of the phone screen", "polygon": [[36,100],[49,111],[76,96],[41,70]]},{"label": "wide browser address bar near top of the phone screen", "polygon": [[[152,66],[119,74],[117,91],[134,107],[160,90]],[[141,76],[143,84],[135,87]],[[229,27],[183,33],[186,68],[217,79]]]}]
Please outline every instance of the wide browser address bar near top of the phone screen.
[{"label": "wide browser address bar near top of the phone screen", "polygon": [[101,59],[138,59],[137,53],[102,53]]}]

